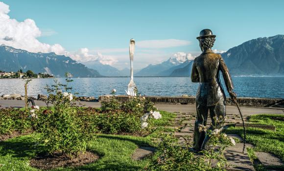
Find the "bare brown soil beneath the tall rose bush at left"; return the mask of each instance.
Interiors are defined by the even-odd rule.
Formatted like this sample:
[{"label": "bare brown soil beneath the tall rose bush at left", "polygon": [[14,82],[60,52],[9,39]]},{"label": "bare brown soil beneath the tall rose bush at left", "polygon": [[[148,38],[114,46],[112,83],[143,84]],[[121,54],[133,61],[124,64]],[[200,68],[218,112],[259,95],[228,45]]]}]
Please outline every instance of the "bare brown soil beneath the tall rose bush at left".
[{"label": "bare brown soil beneath the tall rose bush at left", "polygon": [[54,169],[59,167],[78,167],[89,163],[93,163],[99,158],[93,152],[86,151],[80,153],[72,159],[67,154],[54,153],[53,155],[40,154],[36,158],[30,160],[30,166],[38,169]]}]

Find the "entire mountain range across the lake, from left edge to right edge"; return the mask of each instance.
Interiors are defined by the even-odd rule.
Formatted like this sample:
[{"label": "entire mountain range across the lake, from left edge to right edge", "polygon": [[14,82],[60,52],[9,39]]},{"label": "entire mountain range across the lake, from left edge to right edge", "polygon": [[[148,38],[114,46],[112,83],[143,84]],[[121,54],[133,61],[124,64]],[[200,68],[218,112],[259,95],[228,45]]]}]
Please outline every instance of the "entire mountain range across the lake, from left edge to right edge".
[{"label": "entire mountain range across the lake, from left edge to right edge", "polygon": [[[181,52],[179,52],[181,53]],[[230,48],[221,54],[232,75],[284,75],[284,35],[253,39]],[[193,58],[183,53],[182,58],[173,56],[161,64],[149,64],[134,76],[141,77],[189,77]],[[55,53],[31,53],[10,46],[0,46],[0,70],[32,70],[64,76],[70,72],[74,77],[130,76],[130,69],[117,68],[88,61],[80,64],[70,57]]]}]

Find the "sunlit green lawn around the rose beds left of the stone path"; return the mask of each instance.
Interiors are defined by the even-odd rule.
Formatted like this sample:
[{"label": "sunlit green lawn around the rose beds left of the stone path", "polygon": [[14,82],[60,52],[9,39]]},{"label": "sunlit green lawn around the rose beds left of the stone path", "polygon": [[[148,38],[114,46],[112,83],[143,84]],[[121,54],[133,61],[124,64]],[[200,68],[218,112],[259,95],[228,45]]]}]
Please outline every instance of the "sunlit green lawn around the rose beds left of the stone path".
[{"label": "sunlit green lawn around the rose beds left of the stone path", "polygon": [[[175,114],[160,111],[162,118],[152,120],[153,126],[169,126]],[[156,135],[165,131],[157,129]],[[152,132],[152,133],[153,133]],[[42,151],[36,140],[39,134],[20,136],[0,142],[0,171],[39,171],[29,166],[29,160]],[[131,159],[133,152],[139,147],[156,146],[152,142],[153,134],[146,137],[129,135],[99,134],[88,144],[88,150],[95,152],[100,158],[92,164],[77,168],[57,168],[52,171],[137,171],[142,169],[149,160],[141,161]]]}]

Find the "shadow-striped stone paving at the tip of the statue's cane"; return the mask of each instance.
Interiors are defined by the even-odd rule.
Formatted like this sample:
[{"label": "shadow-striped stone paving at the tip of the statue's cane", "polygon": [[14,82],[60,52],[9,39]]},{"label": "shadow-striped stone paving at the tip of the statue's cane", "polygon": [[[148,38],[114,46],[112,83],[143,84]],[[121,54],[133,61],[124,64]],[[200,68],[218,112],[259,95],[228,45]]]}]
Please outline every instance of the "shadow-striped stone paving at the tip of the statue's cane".
[{"label": "shadow-striped stone paving at the tip of the statue's cane", "polygon": [[[252,145],[246,144],[246,147]],[[254,171],[253,163],[250,161],[249,156],[245,153],[242,153],[243,144],[236,143],[236,146],[227,147],[224,150],[224,156],[228,160],[230,171]]]}]

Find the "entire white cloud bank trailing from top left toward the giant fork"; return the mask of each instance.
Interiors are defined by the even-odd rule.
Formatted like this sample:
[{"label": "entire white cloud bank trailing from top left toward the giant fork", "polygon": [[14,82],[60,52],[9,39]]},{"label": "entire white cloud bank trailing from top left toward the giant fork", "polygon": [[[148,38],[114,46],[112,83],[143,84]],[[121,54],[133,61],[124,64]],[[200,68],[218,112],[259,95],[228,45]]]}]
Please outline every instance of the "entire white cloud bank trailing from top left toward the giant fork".
[{"label": "entire white cloud bank trailing from top left toward the giant fork", "polygon": [[104,56],[101,53],[96,55],[89,54],[89,49],[81,48],[75,53],[65,50],[58,44],[41,43],[37,38],[41,36],[50,36],[56,34],[51,29],[43,32],[37,27],[32,19],[26,19],[22,22],[16,19],[11,19],[8,15],[10,12],[9,5],[0,2],[0,44],[5,44],[19,49],[24,49],[29,52],[55,52],[58,55],[70,56],[77,61],[98,60],[102,64],[114,64],[117,62],[112,56]]}]

